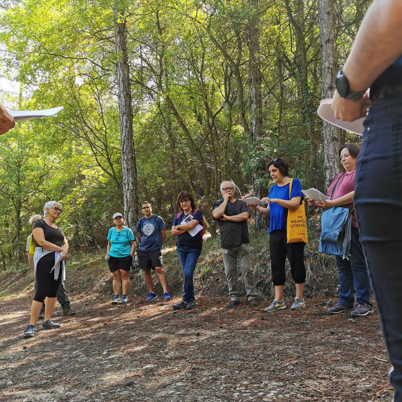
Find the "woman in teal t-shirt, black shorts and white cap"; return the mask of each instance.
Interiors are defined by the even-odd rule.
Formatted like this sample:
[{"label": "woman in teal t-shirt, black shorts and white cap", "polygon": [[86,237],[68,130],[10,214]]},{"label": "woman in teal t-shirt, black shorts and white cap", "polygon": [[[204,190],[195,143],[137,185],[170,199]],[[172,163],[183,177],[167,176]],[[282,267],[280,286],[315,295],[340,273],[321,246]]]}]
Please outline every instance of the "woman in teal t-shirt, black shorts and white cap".
[{"label": "woman in teal t-shirt, black shorts and white cap", "polygon": [[[113,274],[113,296],[112,304],[128,302],[127,293],[130,287],[129,271],[135,252],[135,238],[131,229],[124,225],[123,216],[119,212],[113,215],[114,228],[108,233],[108,254],[106,260],[109,269]],[[122,279],[123,294],[120,298],[120,278]]]}]

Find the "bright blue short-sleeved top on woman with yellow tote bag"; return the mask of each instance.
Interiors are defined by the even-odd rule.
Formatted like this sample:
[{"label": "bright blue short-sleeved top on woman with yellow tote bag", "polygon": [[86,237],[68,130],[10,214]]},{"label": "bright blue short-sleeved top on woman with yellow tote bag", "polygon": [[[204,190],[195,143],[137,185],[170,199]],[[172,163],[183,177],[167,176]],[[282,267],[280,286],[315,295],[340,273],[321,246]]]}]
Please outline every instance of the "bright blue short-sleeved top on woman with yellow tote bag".
[{"label": "bright blue short-sleeved top on woman with yellow tote bag", "polygon": [[[280,198],[287,201],[293,197],[301,196],[304,199],[302,184],[298,179],[293,179],[290,197],[289,185],[290,183],[283,186],[274,184],[269,190],[268,198]],[[279,204],[269,204],[269,233],[273,230],[286,230],[287,211],[287,208],[281,207]]]}]

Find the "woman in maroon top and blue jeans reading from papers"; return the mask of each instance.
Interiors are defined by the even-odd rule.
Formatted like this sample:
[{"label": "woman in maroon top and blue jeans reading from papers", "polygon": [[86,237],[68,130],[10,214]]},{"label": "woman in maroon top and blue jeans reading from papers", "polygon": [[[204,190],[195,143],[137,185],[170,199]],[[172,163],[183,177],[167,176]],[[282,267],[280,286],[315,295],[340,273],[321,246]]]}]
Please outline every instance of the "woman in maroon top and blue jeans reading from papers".
[{"label": "woman in maroon top and blue jeans reading from papers", "polygon": [[[335,176],[328,188],[328,196],[331,196],[334,185],[335,191],[332,199],[326,201],[313,201],[309,199],[311,207],[329,209],[333,207],[353,207],[354,184],[356,173],[356,159],[360,152],[360,145],[346,143],[339,149],[339,157],[345,171]],[[352,213],[352,238],[349,259],[335,256],[335,263],[339,274],[339,301],[338,304],[328,310],[328,314],[338,314],[353,310],[354,288],[356,287],[356,308],[350,313],[352,317],[366,316],[373,313],[370,303],[371,284],[368,276],[363,248],[359,240],[356,215]]]}]

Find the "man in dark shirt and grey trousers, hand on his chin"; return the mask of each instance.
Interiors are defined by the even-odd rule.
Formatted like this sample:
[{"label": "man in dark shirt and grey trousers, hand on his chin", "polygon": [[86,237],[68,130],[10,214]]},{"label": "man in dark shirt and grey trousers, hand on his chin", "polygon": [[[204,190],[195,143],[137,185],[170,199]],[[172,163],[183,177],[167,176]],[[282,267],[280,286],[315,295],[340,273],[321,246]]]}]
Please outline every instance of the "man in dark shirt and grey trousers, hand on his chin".
[{"label": "man in dark shirt and grey trousers, hand on his chin", "polygon": [[215,202],[212,216],[217,220],[221,233],[222,257],[231,299],[226,308],[232,309],[240,303],[237,261],[242,272],[248,303],[251,307],[258,306],[247,228],[250,210],[246,203],[235,198],[235,186],[232,181],[221,183],[221,193],[223,198]]}]

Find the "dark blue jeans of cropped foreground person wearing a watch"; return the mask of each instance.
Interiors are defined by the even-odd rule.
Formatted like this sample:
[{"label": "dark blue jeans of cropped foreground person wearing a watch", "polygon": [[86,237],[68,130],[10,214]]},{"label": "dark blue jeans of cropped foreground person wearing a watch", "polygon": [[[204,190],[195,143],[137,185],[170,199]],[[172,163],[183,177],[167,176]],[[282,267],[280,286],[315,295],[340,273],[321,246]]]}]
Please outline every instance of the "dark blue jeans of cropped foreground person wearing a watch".
[{"label": "dark blue jeans of cropped foreground person wearing a watch", "polygon": [[354,203],[382,332],[402,401],[402,99],[374,102],[364,121]]}]

